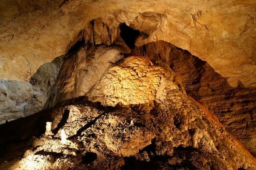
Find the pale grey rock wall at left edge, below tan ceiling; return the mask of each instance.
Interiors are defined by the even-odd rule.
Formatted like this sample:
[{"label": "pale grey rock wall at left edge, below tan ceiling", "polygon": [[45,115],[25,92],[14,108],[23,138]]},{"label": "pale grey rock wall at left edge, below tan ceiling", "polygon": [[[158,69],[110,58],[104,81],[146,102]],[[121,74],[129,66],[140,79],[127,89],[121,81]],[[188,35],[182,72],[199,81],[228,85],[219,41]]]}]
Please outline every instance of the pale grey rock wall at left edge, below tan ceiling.
[{"label": "pale grey rock wall at left edge, below tan ceiling", "polygon": [[0,80],[0,124],[40,111],[62,64],[62,58],[40,66],[30,82]]}]

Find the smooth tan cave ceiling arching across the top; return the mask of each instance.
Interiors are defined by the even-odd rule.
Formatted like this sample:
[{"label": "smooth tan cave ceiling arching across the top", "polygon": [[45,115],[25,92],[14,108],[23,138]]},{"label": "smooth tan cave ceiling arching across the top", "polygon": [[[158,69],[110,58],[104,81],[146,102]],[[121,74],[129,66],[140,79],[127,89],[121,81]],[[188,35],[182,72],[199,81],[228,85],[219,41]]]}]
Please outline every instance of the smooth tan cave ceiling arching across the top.
[{"label": "smooth tan cave ceiling arching across the top", "polygon": [[137,45],[168,41],[207,61],[230,85],[256,85],[254,0],[4,0],[0,15],[0,78],[27,81],[101,17],[93,29],[96,44],[113,42],[115,27],[126,23],[148,34]]}]

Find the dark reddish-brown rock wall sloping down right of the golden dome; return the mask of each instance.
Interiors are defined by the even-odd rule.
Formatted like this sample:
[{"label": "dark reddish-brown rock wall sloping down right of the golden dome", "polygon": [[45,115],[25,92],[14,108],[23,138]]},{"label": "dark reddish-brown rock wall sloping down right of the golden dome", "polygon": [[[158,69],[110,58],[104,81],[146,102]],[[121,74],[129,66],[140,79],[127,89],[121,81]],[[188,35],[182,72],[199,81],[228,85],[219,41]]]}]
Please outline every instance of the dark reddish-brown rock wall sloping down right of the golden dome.
[{"label": "dark reddish-brown rock wall sloping down right of the golden dome", "polygon": [[154,62],[166,63],[182,78],[186,92],[212,111],[243,145],[256,155],[256,89],[231,87],[205,61],[168,42],[157,41],[137,49]]}]

